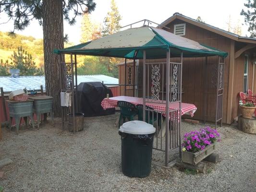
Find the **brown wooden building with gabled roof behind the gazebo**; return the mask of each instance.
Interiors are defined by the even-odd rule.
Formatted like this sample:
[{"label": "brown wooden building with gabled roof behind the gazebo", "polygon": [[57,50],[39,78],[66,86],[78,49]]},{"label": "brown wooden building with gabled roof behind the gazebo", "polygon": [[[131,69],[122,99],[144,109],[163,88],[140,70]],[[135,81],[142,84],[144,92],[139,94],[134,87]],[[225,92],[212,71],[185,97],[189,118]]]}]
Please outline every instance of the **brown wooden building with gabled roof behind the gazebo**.
[{"label": "brown wooden building with gabled roof behind the gazebo", "polygon": [[[220,113],[221,121],[231,124],[240,114],[239,92],[247,92],[248,89],[256,92],[256,38],[238,36],[180,13],[174,13],[158,27],[229,53],[224,59],[223,71],[222,69],[218,71],[218,57],[184,58],[182,101],[195,104],[197,107],[193,117],[195,120],[215,122],[217,113]],[[134,76],[134,74],[136,78],[132,78],[132,84],[137,84],[135,86],[135,89],[138,89],[137,96],[141,95],[141,63],[140,61],[127,62],[127,67],[131,68],[130,74],[127,70],[125,74],[124,63],[119,64],[119,84],[123,85],[120,87],[120,95],[125,95],[124,85],[127,84],[128,76]],[[135,67],[132,67],[133,65]],[[223,82],[218,81],[219,75],[223,75]],[[219,93],[216,86],[222,83],[224,89]],[[125,87],[129,89],[131,86]],[[131,93],[133,92],[130,91],[130,95]],[[221,108],[220,102],[217,103],[218,94],[221,96]]]}]

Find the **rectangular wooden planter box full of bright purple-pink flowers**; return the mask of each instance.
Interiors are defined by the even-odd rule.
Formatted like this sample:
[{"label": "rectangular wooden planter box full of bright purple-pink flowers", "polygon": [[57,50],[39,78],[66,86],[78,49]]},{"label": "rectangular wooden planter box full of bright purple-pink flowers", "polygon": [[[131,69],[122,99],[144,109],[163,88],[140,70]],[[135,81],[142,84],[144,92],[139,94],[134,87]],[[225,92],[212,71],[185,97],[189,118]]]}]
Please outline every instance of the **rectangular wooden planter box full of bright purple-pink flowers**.
[{"label": "rectangular wooden planter box full of bright purple-pink flowers", "polygon": [[210,127],[185,133],[182,144],[182,161],[196,165],[213,153],[215,144],[219,142],[219,138],[219,132]]}]

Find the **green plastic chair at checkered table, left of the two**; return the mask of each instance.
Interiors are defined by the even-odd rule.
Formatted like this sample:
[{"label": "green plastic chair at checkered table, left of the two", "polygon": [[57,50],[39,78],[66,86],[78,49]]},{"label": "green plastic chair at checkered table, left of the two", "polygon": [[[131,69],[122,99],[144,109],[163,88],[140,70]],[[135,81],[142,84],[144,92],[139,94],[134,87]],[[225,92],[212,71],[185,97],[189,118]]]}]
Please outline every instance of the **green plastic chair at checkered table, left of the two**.
[{"label": "green plastic chair at checkered table, left of the two", "polygon": [[134,120],[134,116],[138,114],[138,111],[134,104],[129,103],[127,101],[118,101],[117,106],[120,108],[121,113],[119,117],[119,127],[121,126],[121,120],[123,119],[123,123],[126,118],[130,120]]}]

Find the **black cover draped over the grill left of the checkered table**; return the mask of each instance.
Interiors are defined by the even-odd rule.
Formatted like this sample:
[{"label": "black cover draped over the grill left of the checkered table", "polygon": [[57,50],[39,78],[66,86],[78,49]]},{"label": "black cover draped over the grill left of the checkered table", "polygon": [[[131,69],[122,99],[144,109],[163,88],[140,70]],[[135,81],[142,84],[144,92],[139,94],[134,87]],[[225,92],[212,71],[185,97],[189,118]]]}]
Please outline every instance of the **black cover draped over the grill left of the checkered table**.
[{"label": "black cover draped over the grill left of the checkered table", "polygon": [[115,108],[104,110],[101,101],[110,94],[111,90],[100,82],[80,83],[77,87],[78,111],[85,113],[85,117],[110,115],[115,113]]}]

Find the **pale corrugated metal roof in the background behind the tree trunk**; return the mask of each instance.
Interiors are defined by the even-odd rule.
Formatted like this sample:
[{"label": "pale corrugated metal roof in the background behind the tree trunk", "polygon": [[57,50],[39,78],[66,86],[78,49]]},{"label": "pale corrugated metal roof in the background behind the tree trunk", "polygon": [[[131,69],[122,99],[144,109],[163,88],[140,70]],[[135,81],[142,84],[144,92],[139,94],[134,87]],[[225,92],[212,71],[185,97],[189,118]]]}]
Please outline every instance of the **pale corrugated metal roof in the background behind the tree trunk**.
[{"label": "pale corrugated metal roof in the background behind the tree trunk", "polygon": [[[118,84],[117,78],[107,75],[77,75],[77,84],[81,82],[103,82],[104,84]],[[20,76],[13,77],[0,77],[0,87],[3,87],[3,91],[13,91],[16,89],[40,89],[40,85],[43,85],[45,90],[45,76]]]}]

